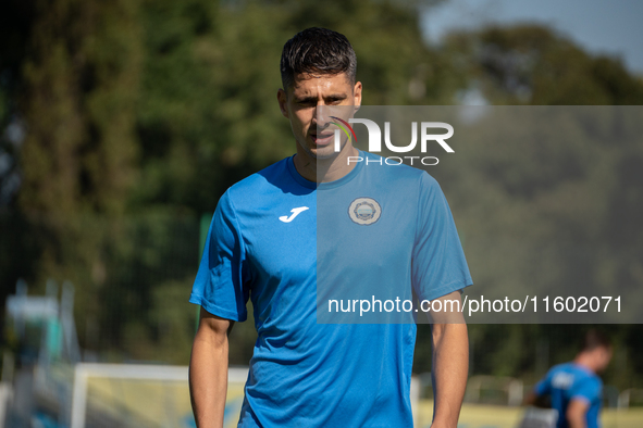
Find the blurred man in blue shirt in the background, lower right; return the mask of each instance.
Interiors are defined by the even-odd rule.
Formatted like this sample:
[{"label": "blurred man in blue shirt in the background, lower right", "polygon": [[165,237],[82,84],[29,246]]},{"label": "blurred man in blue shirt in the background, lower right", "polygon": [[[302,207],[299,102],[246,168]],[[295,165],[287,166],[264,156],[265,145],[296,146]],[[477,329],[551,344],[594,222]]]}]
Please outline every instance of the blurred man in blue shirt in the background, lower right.
[{"label": "blurred man in blue shirt in the background, lower right", "polygon": [[528,404],[548,396],[558,412],[557,428],[597,428],[603,401],[603,372],[611,360],[609,338],[597,330],[584,337],[581,352],[572,362],[559,364],[535,386]]}]

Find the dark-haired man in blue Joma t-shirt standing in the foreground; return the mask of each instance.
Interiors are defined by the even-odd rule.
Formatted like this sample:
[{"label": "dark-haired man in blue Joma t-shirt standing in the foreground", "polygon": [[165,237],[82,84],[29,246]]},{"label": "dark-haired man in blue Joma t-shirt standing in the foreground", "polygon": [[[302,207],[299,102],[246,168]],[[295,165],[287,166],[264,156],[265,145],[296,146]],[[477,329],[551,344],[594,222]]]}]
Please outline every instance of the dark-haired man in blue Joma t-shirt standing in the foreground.
[{"label": "dark-haired man in blue Joma t-shirt standing in the foreground", "polygon": [[[227,331],[246,319],[248,299],[258,339],[240,427],[412,426],[415,324],[318,323],[319,276],[339,286],[412,290],[422,300],[459,301],[472,282],[436,181],[408,166],[347,163],[379,156],[349,139],[336,153],[332,128],[318,122],[319,108],[360,105],[356,66],[350,43],[335,32],[309,28],[284,46],[277,100],[296,154],[222,196],[190,295],[201,305],[189,377],[199,427],[222,426]],[[342,239],[369,251],[349,251],[355,246]],[[456,323],[440,316],[432,327],[433,426],[455,428],[467,327],[461,314]]]}]

